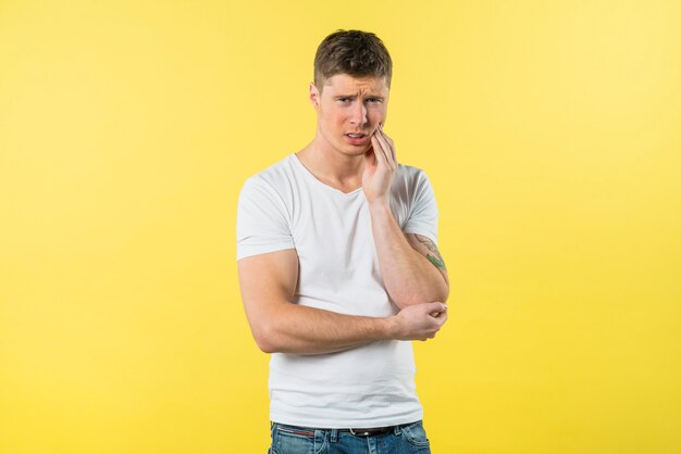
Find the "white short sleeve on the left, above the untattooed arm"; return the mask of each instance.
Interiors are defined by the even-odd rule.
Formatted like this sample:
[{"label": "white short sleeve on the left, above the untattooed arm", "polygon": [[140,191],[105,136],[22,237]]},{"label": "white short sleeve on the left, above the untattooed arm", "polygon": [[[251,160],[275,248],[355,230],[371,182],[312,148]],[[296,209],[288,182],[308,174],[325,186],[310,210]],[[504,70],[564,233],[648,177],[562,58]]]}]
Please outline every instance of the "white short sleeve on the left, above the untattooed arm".
[{"label": "white short sleeve on the left, above the untattooed arm", "polygon": [[236,260],[294,249],[286,205],[274,188],[255,176],[246,180],[236,210]]}]

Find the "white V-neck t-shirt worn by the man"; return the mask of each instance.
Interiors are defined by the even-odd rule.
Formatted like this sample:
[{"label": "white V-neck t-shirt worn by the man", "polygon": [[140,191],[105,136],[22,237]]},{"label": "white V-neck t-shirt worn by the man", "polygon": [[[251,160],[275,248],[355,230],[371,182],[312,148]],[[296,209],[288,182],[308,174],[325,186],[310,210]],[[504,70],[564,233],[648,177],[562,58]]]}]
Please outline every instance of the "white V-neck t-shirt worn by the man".
[{"label": "white V-neck t-shirt worn by the man", "polygon": [[[437,207],[425,174],[399,165],[391,210],[403,231],[437,241]],[[361,188],[344,193],[295,154],[249,178],[237,209],[237,260],[298,254],[295,303],[340,314],[397,313],[381,277]],[[381,341],[321,355],[274,353],[270,419],[320,428],[382,427],[422,419],[411,342]]]}]

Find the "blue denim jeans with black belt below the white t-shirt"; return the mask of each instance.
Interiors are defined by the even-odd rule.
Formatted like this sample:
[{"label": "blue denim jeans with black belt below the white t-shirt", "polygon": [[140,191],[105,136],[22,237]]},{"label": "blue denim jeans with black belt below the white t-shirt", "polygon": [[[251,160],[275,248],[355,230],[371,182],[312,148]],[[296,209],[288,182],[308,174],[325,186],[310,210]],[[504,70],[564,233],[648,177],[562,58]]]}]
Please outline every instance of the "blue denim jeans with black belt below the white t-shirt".
[{"label": "blue denim jeans with black belt below the white t-shirt", "polygon": [[430,454],[421,421],[395,426],[388,432],[354,436],[337,429],[272,425],[268,454]]}]

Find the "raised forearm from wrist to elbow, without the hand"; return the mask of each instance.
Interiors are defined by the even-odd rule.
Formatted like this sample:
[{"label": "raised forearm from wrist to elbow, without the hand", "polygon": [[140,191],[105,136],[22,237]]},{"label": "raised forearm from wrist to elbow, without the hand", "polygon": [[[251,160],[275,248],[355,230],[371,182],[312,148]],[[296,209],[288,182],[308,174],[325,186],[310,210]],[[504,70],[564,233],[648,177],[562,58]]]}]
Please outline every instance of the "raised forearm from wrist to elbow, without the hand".
[{"label": "raised forearm from wrist to elbow, without the hand", "polygon": [[[385,287],[398,307],[433,301],[445,302],[449,295],[446,274],[437,263],[416,251],[405,238],[385,202],[370,205],[371,228]],[[442,264],[444,267],[444,264]]]}]

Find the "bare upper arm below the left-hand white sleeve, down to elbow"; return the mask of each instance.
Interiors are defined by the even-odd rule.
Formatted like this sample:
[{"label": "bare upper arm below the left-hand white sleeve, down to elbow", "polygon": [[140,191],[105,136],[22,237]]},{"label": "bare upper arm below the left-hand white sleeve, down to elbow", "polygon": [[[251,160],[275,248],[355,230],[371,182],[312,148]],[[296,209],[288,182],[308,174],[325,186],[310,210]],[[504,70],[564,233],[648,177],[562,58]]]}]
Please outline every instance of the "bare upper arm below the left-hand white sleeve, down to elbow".
[{"label": "bare upper arm below the left-hand white sleeve, down to elbow", "polygon": [[298,281],[295,249],[252,255],[237,262],[242,301],[251,328],[293,300]]}]

